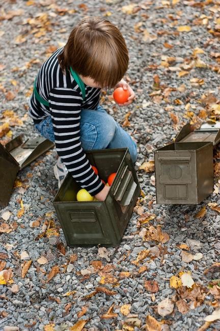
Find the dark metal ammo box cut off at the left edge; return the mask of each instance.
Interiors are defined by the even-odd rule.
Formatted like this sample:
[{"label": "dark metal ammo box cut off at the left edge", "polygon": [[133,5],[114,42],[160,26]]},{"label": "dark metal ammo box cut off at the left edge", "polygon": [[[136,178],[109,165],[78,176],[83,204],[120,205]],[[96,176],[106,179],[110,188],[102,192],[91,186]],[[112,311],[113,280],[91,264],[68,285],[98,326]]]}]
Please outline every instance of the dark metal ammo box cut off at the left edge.
[{"label": "dark metal ammo box cut off at the left edge", "polygon": [[17,172],[54,146],[38,137],[23,142],[23,135],[15,137],[5,146],[0,144],[0,206],[8,205]]}]

